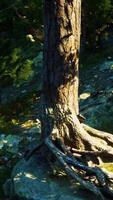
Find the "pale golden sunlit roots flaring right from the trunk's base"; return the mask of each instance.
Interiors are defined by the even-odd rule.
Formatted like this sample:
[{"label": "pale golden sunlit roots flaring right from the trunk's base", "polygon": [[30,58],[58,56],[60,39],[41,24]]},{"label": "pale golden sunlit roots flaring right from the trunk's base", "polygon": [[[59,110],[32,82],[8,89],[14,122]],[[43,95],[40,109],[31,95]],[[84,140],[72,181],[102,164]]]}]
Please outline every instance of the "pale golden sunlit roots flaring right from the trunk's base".
[{"label": "pale golden sunlit roots flaring right from the trunk's base", "polygon": [[[110,162],[113,160],[113,135],[98,131],[94,128],[91,128],[85,124],[81,124],[75,115],[68,115],[65,117],[64,126],[68,127],[68,131],[64,129],[64,132],[67,137],[67,141],[64,143],[67,146],[78,151],[83,150],[83,152],[76,152],[84,155],[93,155],[95,157],[101,158],[102,161]],[[71,132],[70,132],[71,131]],[[62,137],[62,136],[61,136]],[[69,141],[69,142],[68,142]],[[77,146],[79,144],[79,146]],[[80,146],[81,144],[81,146]],[[92,158],[91,158],[92,160]],[[97,164],[97,163],[96,163]]]}]

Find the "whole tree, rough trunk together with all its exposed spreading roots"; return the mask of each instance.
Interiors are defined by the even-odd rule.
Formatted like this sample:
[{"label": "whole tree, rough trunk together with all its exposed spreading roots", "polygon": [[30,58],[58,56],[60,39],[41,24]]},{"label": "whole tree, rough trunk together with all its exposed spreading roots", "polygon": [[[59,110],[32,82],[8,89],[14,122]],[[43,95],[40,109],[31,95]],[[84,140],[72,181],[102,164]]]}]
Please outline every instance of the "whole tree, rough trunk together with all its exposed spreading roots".
[{"label": "whole tree, rough trunk together with all its exposed spreading roots", "polygon": [[[82,123],[78,106],[80,50],[80,0],[44,1],[44,72],[42,134],[39,150],[49,161],[54,157],[83,187],[104,200],[113,197],[109,174],[100,161],[113,159],[113,136]],[[95,178],[94,178],[95,177]]]}]

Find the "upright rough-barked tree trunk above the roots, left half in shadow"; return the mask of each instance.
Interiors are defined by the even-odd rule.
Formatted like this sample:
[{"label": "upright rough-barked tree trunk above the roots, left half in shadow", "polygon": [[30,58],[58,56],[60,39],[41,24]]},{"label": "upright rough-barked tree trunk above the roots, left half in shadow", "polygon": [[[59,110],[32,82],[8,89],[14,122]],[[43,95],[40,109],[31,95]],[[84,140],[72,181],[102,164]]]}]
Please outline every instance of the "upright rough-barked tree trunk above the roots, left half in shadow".
[{"label": "upright rough-barked tree trunk above the roots, left half in shadow", "polygon": [[75,139],[67,118],[79,114],[80,24],[80,0],[44,1],[42,133],[46,137],[57,129],[53,137],[62,137],[66,143]]}]

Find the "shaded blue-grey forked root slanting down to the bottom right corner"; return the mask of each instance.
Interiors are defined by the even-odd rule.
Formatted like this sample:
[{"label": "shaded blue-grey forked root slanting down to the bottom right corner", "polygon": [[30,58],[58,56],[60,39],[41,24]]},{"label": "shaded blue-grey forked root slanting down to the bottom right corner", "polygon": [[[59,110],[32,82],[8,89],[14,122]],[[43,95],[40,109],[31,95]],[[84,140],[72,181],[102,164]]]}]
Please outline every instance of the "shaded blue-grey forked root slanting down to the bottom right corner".
[{"label": "shaded blue-grey forked root slanting down to the bottom right corner", "polygon": [[[110,190],[108,186],[107,176],[101,171],[101,169],[97,167],[88,167],[79,162],[73,156],[70,157],[65,155],[53,144],[50,137],[46,138],[45,144],[59,160],[66,173],[79,182],[84,188],[90,190],[102,200],[105,199],[103,193],[113,197],[113,191]],[[76,169],[78,169],[79,172],[76,171]],[[87,176],[88,180],[85,180],[85,177]],[[91,179],[92,176],[95,176],[96,178],[94,183]]]}]

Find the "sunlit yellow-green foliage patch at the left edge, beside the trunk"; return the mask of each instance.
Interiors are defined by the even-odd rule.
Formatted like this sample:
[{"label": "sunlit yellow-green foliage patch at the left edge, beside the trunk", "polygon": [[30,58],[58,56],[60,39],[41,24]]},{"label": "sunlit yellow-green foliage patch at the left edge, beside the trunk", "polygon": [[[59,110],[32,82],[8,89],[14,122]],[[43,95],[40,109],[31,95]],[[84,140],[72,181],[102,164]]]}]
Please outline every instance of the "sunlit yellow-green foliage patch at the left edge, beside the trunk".
[{"label": "sunlit yellow-green foliage patch at the left edge, beside the trunk", "polygon": [[14,48],[1,59],[1,85],[22,84],[33,76],[32,60],[25,59],[21,48]]}]

